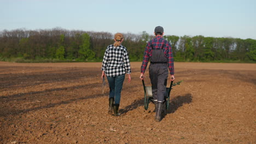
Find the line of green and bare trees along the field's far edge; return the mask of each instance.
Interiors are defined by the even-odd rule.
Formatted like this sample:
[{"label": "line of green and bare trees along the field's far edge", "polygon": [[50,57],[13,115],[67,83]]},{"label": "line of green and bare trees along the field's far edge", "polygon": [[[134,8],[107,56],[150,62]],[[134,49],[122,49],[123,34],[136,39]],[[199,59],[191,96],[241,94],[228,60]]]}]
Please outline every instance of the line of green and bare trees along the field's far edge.
[{"label": "line of green and bare trees along the field's far edge", "polygon": [[[154,38],[147,32],[125,33],[124,45],[131,61],[142,61],[147,42]],[[174,61],[183,62],[256,62],[256,40],[214,38],[197,35],[164,35],[172,45]],[[53,29],[14,29],[0,31],[0,60],[18,58],[26,61],[102,61],[106,47],[113,44],[109,32]]]}]

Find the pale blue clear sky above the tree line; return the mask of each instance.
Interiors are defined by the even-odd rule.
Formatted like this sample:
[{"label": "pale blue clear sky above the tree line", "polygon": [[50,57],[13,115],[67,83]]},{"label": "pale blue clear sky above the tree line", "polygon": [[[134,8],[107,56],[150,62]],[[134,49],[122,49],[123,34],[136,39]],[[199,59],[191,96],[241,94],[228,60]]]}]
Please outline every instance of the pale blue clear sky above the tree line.
[{"label": "pale blue clear sky above the tree line", "polygon": [[256,39],[256,0],[0,0],[0,31],[17,28]]}]

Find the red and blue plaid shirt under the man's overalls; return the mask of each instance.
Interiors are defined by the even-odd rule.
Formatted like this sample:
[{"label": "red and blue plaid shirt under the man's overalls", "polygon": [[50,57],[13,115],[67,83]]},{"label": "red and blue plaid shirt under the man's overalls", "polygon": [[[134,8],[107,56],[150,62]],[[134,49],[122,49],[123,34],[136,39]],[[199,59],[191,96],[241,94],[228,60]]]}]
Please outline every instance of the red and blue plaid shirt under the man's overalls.
[{"label": "red and blue plaid shirt under the man's overalls", "polygon": [[[145,70],[148,65],[149,58],[152,56],[152,47],[150,44],[154,46],[154,49],[161,49],[162,45],[164,44],[165,39],[160,36],[155,37],[154,39],[150,40],[146,46],[143,62],[141,65],[141,73],[145,73]],[[170,70],[170,74],[174,75],[174,66],[173,66],[173,57],[172,57],[172,48],[171,44],[166,41],[166,46],[163,49],[165,56],[167,58],[168,68]]]}]

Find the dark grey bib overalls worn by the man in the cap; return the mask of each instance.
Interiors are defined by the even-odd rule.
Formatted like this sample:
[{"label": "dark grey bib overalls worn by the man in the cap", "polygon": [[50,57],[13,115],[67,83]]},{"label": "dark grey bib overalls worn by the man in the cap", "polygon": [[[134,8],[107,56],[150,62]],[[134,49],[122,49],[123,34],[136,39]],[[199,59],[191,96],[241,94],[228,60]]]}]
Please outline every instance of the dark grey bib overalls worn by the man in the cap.
[{"label": "dark grey bib overalls worn by the man in the cap", "polygon": [[163,50],[165,45],[166,40],[161,49],[154,49],[154,46],[150,44],[152,57],[150,57],[149,77],[152,84],[153,99],[155,102],[158,101],[160,103],[163,103],[165,99],[168,77],[167,58]]}]

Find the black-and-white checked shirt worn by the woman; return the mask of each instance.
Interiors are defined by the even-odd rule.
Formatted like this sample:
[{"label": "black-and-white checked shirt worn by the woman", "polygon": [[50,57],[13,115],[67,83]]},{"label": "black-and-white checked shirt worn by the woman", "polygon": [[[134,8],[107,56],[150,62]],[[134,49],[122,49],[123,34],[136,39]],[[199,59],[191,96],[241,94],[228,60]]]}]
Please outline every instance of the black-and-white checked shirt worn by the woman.
[{"label": "black-and-white checked shirt worn by the woman", "polygon": [[101,70],[109,77],[131,74],[129,55],[126,47],[109,45],[104,54]]}]

